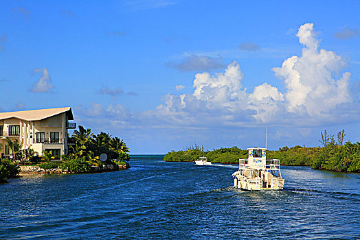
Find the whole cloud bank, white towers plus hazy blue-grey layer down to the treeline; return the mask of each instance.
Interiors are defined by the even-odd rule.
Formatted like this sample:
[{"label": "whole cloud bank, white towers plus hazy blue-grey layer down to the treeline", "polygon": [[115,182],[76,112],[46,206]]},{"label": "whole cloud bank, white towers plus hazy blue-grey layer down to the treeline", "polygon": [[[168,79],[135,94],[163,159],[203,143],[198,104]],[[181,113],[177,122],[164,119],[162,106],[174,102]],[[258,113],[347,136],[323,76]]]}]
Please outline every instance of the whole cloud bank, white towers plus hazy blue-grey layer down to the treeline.
[{"label": "whole cloud bank, white towers plus hazy blue-grey layer down to the treeline", "polygon": [[[312,23],[300,26],[296,36],[304,46],[302,52],[272,69],[284,83],[282,91],[267,80],[247,90],[246,73],[233,61],[217,73],[197,73],[192,93],[165,95],[163,103],[152,110],[132,114],[122,105],[93,103],[75,112],[89,123],[133,129],[134,142],[148,131],[151,136],[166,136],[167,143],[171,137],[172,144],[188,144],[198,137],[201,143],[216,142],[216,147],[219,139],[229,144],[246,139],[243,145],[258,145],[265,125],[275,125],[273,139],[286,139],[289,145],[295,143],[293,139],[307,137],[310,130],[323,130],[319,126],[359,121],[360,84],[350,86],[350,73],[342,72],[346,61],[333,51],[319,49]],[[182,87],[177,85],[178,90]]]}]

